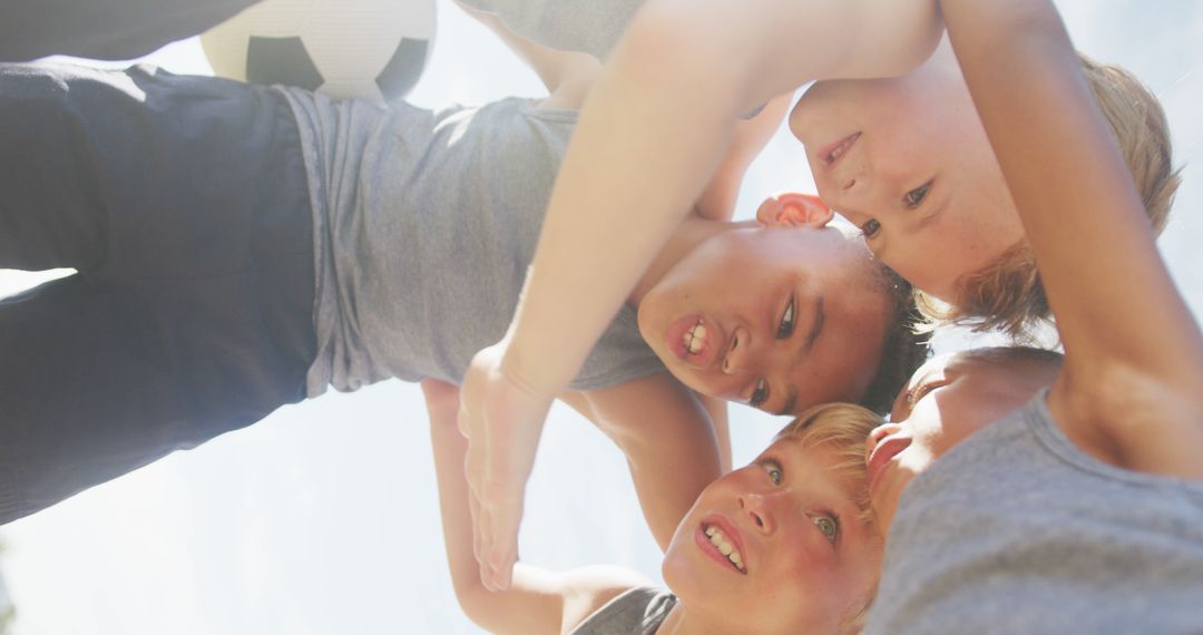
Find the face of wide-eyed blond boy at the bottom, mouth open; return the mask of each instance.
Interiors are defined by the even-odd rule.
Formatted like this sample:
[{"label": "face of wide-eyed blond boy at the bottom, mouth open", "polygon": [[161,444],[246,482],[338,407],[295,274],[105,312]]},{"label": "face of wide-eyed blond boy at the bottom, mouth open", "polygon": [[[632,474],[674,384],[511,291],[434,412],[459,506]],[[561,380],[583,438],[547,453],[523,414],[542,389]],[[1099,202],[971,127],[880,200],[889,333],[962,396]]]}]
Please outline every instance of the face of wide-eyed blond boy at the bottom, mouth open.
[{"label": "face of wide-eyed blond boy at the bottom, mouth open", "polygon": [[687,612],[723,633],[835,633],[864,606],[882,540],[835,461],[787,438],[703,491],[663,565]]}]

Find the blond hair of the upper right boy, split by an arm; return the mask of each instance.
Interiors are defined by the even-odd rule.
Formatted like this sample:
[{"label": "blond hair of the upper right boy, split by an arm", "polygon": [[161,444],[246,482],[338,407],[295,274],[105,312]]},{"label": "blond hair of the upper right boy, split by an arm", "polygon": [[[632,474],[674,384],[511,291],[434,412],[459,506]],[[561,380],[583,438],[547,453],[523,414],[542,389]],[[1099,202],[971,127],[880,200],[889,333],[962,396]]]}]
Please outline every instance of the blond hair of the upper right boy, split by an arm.
[{"label": "blond hair of the upper right boy, split by an arm", "polygon": [[[1161,102],[1128,71],[1100,64],[1081,53],[1081,71],[1107,119],[1140,194],[1154,232],[1161,233],[1181,182],[1173,167],[1169,126]],[[953,303],[915,290],[915,305],[926,318],[920,328],[959,324],[974,331],[998,330],[1030,339],[1053,320],[1036,259],[1025,241],[1012,245],[984,268],[956,281]]]}]

